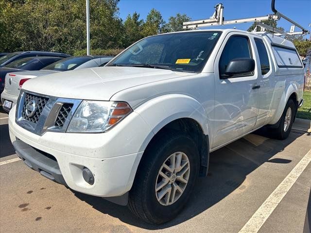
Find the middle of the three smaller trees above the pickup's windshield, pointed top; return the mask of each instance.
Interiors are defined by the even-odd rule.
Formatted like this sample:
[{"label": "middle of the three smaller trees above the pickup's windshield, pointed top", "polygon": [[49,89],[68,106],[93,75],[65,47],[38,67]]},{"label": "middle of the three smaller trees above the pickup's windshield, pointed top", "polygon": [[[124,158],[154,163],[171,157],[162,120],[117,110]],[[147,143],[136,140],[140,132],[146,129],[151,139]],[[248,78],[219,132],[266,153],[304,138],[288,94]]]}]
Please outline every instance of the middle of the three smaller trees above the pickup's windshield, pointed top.
[{"label": "middle of the three smaller trees above the pickup's windshield, pointed top", "polygon": [[161,33],[165,21],[161,13],[154,8],[149,12],[146,22],[143,24],[142,35],[149,36]]}]

